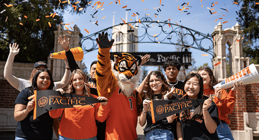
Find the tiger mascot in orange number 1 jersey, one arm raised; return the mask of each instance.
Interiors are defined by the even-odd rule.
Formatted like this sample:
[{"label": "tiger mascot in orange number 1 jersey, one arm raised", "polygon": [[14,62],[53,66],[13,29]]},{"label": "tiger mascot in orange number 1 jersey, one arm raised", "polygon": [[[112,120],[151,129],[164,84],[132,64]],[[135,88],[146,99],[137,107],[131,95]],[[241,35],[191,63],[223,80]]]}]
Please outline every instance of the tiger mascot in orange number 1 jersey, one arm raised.
[{"label": "tiger mascot in orange number 1 jersey, one arm raised", "polygon": [[98,63],[95,73],[97,90],[99,96],[105,96],[109,100],[105,139],[137,139],[136,126],[142,99],[135,88],[140,80],[141,57],[115,52],[110,58],[114,39],[109,41],[108,34],[104,35],[104,32],[99,34],[98,38]]}]

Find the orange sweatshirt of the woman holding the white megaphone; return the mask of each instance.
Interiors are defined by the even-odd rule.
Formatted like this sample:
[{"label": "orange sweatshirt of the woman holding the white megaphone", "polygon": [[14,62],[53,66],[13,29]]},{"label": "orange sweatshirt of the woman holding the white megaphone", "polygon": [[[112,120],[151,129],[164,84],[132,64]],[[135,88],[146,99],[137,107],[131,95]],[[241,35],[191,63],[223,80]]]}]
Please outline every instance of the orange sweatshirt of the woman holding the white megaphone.
[{"label": "orange sweatshirt of the woman holding the white megaphone", "polygon": [[227,114],[231,114],[234,110],[235,105],[235,91],[229,90],[227,93],[226,90],[221,90],[221,99],[215,97],[214,89],[204,89],[205,96],[209,97],[212,95],[212,100],[218,107],[219,120],[225,121],[228,125],[230,120],[227,118]]}]

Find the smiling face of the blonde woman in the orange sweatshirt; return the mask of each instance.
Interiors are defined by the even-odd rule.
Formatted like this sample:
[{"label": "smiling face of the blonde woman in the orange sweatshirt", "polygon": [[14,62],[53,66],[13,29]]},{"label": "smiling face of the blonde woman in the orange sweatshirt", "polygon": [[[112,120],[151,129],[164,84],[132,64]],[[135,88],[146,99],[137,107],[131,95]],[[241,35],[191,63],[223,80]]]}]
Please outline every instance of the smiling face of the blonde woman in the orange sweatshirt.
[{"label": "smiling face of the blonde woman in the orange sweatshirt", "polygon": [[75,94],[83,94],[84,91],[84,78],[76,73],[71,80],[73,87],[75,88]]}]

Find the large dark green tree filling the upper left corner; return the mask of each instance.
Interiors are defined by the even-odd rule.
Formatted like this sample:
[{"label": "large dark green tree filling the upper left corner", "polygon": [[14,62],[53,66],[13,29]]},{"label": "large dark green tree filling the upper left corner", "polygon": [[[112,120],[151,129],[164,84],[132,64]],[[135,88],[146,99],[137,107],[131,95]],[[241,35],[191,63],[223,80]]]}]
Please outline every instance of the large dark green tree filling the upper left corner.
[{"label": "large dark green tree filling the upper left corner", "polygon": [[[63,22],[62,13],[71,9],[72,13],[86,10],[89,0],[70,0],[71,4],[60,3],[59,0],[30,0],[14,1],[2,0],[0,5],[0,60],[6,61],[9,55],[9,44],[19,44],[20,52],[16,62],[33,63],[47,61],[47,57],[54,49],[54,31]],[[13,6],[4,5],[13,4]],[[73,5],[78,8],[74,11]],[[84,10],[78,11],[79,7]],[[61,11],[63,9],[63,11]],[[59,12],[57,12],[59,11]],[[61,12],[60,12],[61,11]],[[57,12],[59,15],[55,15]],[[46,17],[46,16],[49,17]],[[52,15],[52,16],[50,16]],[[39,21],[36,21],[39,19]],[[50,25],[51,27],[50,27]]]}]

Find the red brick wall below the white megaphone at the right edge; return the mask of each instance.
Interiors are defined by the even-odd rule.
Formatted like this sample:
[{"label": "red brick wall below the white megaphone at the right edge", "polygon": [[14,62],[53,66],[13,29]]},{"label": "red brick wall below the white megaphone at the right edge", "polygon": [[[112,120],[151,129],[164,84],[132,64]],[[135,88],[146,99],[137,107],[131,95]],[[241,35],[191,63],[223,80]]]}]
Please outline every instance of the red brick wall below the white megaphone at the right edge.
[{"label": "red brick wall below the white megaphone at the right edge", "polygon": [[231,130],[244,130],[243,112],[259,110],[259,83],[248,84],[236,91],[236,103],[230,119]]}]

